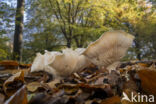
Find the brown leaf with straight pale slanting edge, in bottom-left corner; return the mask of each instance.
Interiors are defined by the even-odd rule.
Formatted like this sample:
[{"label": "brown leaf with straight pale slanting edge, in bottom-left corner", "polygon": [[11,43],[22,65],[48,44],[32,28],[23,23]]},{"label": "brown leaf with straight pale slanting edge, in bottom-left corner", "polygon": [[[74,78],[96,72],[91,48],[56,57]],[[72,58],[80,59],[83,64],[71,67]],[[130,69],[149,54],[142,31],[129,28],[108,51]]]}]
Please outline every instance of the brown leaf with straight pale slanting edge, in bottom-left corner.
[{"label": "brown leaf with straight pale slanting edge, in bottom-left corner", "polygon": [[4,104],[28,104],[26,86],[22,86]]}]

